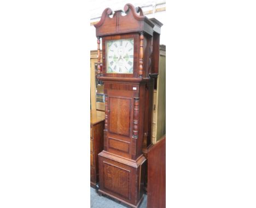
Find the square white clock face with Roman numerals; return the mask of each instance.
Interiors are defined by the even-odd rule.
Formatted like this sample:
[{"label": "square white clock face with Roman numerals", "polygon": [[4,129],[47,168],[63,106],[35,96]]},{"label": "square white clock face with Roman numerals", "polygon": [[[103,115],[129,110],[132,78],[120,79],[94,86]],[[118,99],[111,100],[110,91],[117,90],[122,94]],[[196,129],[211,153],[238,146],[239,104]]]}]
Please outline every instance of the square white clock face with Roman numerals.
[{"label": "square white clock face with Roman numerals", "polygon": [[107,73],[133,74],[133,39],[106,41]]}]

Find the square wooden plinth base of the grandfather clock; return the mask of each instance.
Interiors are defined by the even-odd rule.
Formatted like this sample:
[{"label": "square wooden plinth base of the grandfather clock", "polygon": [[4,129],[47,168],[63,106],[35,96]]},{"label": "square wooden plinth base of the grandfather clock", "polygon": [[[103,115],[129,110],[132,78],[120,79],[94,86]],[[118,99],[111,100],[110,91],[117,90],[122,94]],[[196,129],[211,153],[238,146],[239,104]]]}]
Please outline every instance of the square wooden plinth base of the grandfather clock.
[{"label": "square wooden plinth base of the grandfather clock", "polygon": [[137,207],[143,197],[144,156],[139,161],[132,161],[103,151],[98,155],[98,161],[99,193]]}]

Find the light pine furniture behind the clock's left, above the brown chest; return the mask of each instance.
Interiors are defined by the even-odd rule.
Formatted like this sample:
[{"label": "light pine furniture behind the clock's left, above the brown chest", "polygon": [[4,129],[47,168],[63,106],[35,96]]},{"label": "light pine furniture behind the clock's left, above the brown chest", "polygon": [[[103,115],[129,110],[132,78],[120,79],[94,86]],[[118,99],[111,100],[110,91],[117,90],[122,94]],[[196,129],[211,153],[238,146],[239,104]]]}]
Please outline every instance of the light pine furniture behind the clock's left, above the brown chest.
[{"label": "light pine furniture behind the clock's left, above the brown chest", "polygon": [[[100,54],[102,54],[102,52],[100,52]],[[96,78],[98,65],[97,56],[97,50],[91,51],[91,109],[96,109],[97,111],[105,111],[105,102],[103,100],[104,86],[103,84],[99,83],[100,81]],[[100,62],[102,62],[102,58],[100,59]]]}]

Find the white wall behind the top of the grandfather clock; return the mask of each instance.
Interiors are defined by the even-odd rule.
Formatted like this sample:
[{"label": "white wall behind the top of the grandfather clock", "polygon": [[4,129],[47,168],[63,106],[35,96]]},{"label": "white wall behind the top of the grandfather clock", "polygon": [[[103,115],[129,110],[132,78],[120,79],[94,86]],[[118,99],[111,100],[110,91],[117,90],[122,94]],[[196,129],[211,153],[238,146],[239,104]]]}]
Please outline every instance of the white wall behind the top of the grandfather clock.
[{"label": "white wall behind the top of the grandfather clock", "polygon": [[[90,5],[90,22],[97,22],[100,21],[100,17],[102,15],[102,12],[106,8],[110,8],[113,11],[124,9],[124,6],[126,3],[131,3],[135,7],[141,7],[142,10],[149,11],[157,8],[165,7],[165,1],[163,0],[155,0],[155,1],[148,1],[148,0],[129,0],[127,1],[118,1],[118,0],[96,0],[91,1]],[[154,14],[148,14],[146,15],[148,18],[155,17],[155,19],[158,19],[160,22],[162,22],[164,25],[161,27],[161,38],[160,38],[160,44],[166,45],[166,39],[167,39],[167,29],[166,29],[166,11],[160,11],[156,12]],[[96,30],[94,26],[90,26],[90,30],[88,31],[89,38],[91,41],[89,41],[89,48],[90,50],[97,50],[97,39],[96,39]]]}]

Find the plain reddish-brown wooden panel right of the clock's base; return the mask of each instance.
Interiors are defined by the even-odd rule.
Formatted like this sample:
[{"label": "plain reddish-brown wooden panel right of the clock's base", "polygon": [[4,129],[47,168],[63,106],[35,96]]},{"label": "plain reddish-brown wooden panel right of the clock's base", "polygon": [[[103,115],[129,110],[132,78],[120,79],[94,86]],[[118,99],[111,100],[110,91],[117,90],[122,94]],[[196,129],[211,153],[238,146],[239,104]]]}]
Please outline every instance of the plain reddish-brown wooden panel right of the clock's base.
[{"label": "plain reddish-brown wooden panel right of the clock's base", "polygon": [[165,208],[165,136],[148,151],[148,208]]}]

